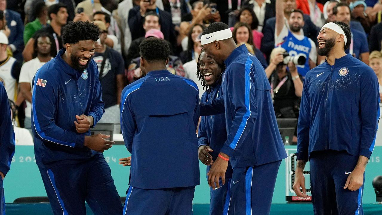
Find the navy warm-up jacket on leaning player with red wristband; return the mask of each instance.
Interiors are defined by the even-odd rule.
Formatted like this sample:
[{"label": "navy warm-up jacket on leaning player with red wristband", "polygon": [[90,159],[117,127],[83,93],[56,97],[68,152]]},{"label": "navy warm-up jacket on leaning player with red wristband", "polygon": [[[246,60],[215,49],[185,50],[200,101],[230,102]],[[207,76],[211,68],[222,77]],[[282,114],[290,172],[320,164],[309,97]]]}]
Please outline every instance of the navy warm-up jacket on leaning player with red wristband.
[{"label": "navy warm-up jacket on leaning player with red wristband", "polygon": [[201,115],[225,112],[227,140],[220,151],[231,157],[233,168],[286,158],[270,84],[259,60],[241,45],[224,63],[223,96],[201,104]]}]

